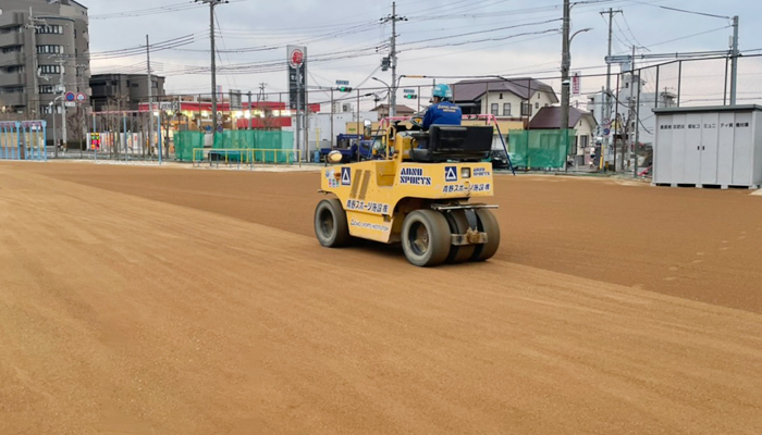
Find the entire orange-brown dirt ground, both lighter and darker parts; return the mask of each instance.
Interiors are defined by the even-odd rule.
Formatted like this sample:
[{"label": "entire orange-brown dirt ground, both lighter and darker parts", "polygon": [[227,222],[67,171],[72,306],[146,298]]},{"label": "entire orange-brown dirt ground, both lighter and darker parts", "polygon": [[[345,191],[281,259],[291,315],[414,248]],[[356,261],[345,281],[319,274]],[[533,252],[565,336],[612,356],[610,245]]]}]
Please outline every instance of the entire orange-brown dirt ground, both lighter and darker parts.
[{"label": "entire orange-brown dirt ground, both lighter and darker parts", "polygon": [[762,433],[762,197],[495,184],[423,270],[315,173],[0,163],[0,434]]}]

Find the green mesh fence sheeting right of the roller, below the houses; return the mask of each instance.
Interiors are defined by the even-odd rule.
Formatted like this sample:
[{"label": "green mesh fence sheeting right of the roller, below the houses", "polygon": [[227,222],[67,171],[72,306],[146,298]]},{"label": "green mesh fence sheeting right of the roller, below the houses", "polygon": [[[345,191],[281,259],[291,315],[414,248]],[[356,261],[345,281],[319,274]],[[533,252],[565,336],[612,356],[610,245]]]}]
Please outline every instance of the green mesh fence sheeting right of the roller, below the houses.
[{"label": "green mesh fence sheeting right of the roller, below the houses", "polygon": [[511,130],[511,163],[515,167],[563,169],[576,136],[575,129]]}]

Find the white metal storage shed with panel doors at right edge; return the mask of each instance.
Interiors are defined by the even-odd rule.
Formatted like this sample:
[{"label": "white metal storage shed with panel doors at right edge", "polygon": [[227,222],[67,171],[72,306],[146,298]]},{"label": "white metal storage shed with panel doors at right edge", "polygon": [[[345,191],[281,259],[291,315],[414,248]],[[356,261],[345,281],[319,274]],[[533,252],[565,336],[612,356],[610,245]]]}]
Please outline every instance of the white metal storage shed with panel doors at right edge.
[{"label": "white metal storage shed with panel doors at right edge", "polygon": [[654,109],[653,184],[762,186],[762,107]]}]

